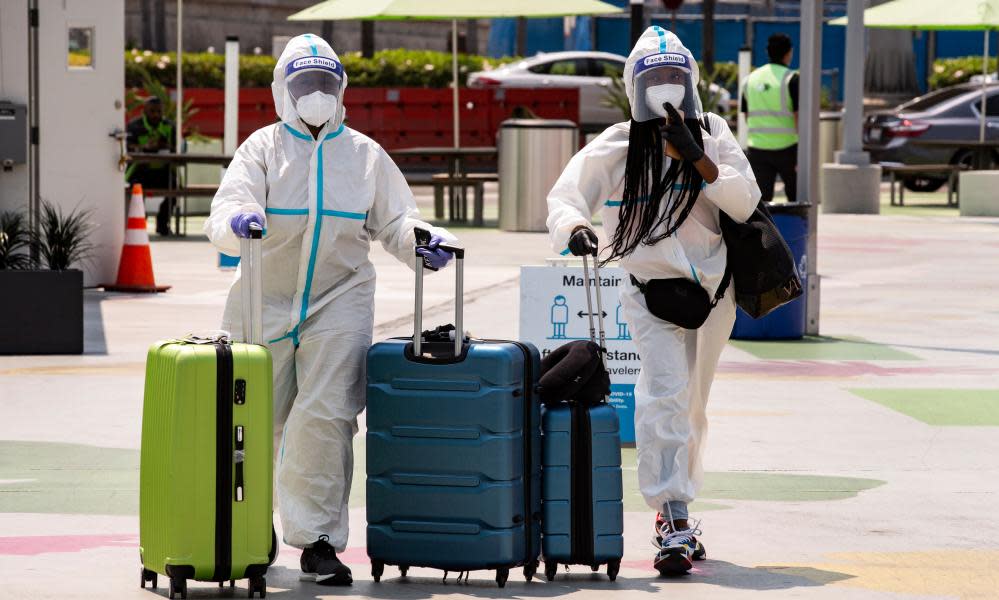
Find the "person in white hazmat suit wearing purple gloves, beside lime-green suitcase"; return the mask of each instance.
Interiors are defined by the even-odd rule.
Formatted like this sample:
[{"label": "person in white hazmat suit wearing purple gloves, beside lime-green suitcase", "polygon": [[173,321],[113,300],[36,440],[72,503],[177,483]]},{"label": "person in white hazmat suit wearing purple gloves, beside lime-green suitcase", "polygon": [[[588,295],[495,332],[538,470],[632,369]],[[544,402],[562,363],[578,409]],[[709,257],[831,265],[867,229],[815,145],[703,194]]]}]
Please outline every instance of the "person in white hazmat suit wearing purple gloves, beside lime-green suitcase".
[{"label": "person in white hazmat suit wearing purple gloves, beside lime-green suitcase", "polygon": [[[347,545],[351,441],[364,408],[375,269],[372,240],[413,264],[415,228],[431,233],[425,262],[454,237],[418,219],[406,180],[370,138],[343,124],[347,74],[329,44],[306,34],[274,68],[280,122],[236,150],[205,232],[239,254],[251,223],[264,226],[263,329],[274,360],[276,497],[284,541],[303,548],[302,578],[349,585],[336,557]],[[240,279],[223,329],[241,336]]]}]

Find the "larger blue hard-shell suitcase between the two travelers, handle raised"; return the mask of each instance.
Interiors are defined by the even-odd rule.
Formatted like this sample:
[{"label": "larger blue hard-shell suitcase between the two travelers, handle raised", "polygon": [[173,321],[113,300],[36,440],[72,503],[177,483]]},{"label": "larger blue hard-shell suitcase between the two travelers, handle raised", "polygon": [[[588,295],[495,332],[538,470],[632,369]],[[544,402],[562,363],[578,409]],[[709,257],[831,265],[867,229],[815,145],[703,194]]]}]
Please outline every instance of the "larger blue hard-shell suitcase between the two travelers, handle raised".
[{"label": "larger blue hard-shell suitcase between the two travelers, handle raised", "polygon": [[[462,331],[463,251],[455,330]],[[423,267],[417,258],[416,327]],[[457,356],[457,358],[456,358]],[[530,344],[422,335],[368,352],[367,547],[386,565],[528,580],[541,552],[541,358]],[[445,574],[445,577],[447,575]]]}]

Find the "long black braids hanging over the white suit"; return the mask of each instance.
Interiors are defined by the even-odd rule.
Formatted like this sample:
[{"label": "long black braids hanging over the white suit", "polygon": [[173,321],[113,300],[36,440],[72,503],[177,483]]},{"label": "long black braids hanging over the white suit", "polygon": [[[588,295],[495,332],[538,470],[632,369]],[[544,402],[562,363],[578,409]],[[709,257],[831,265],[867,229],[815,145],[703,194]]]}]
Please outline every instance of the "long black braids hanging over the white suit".
[{"label": "long black braids hanging over the white suit", "polygon": [[[700,122],[686,118],[684,125],[703,148]],[[628,256],[640,244],[652,246],[676,233],[701,192],[703,179],[690,161],[671,159],[663,174],[662,126],[663,119],[631,120],[619,220],[610,255],[602,264]]]}]

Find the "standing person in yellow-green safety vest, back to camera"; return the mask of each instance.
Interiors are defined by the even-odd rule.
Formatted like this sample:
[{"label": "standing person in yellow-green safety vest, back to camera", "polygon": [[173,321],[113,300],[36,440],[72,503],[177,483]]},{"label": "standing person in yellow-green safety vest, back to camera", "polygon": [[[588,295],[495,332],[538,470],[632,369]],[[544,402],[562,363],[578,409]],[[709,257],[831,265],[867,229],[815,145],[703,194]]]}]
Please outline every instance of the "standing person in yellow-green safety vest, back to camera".
[{"label": "standing person in yellow-green safety vest, back to camera", "polygon": [[770,36],[770,63],[750,73],[742,91],[749,130],[747,155],[764,202],[773,200],[777,175],[788,201],[797,200],[798,73],[788,68],[793,51],[787,34]]}]

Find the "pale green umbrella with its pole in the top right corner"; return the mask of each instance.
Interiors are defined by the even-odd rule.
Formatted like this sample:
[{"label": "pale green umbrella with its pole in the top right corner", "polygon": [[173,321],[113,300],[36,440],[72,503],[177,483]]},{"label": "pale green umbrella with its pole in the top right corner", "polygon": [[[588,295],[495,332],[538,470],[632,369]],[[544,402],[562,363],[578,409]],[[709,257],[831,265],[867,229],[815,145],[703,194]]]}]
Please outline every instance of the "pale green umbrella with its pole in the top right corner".
[{"label": "pale green umbrella with its pole in the top right corner", "polygon": [[[830,25],[846,25],[846,17]],[[989,58],[989,32],[999,29],[999,0],[894,0],[864,11],[864,25],[876,29],[933,29],[984,31],[982,53],[982,110],[979,141],[985,141],[985,87]]]}]

